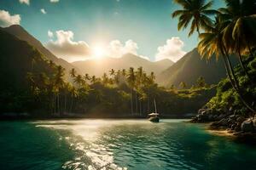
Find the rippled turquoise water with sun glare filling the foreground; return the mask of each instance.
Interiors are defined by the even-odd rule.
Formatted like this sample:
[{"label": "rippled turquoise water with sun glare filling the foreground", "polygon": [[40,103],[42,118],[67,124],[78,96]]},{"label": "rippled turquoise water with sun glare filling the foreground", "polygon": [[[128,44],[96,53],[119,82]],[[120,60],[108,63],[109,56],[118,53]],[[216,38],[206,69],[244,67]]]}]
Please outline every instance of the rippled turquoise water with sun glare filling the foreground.
[{"label": "rippled turquoise water with sun glare filling the foreground", "polygon": [[0,122],[0,169],[256,169],[256,148],[182,120]]}]

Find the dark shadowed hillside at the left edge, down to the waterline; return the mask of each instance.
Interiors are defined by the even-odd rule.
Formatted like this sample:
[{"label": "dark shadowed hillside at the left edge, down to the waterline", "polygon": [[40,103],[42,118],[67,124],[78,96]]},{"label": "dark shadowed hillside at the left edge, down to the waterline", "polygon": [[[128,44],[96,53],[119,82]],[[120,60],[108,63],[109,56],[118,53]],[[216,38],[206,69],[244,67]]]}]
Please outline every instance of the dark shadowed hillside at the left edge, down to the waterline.
[{"label": "dark shadowed hillside at the left edge, down to the waterline", "polygon": [[[30,98],[28,72],[52,77],[55,67],[36,48],[0,30],[0,111],[23,111],[24,105],[37,105]],[[26,103],[26,104],[24,104]]]}]

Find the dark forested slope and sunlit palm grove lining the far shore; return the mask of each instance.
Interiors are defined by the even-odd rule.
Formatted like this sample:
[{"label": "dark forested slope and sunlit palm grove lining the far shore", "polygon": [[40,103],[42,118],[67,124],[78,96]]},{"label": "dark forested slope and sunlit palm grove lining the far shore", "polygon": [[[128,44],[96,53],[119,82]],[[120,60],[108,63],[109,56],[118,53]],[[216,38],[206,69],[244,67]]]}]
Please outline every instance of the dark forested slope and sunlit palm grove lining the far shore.
[{"label": "dark forested slope and sunlit palm grove lining the far shore", "polygon": [[112,69],[102,77],[80,75],[72,69],[67,82],[67,71],[60,65],[45,59],[27,42],[5,31],[0,34],[0,111],[5,115],[145,117],[154,111],[156,99],[163,116],[183,116],[197,111],[215,94],[214,88],[196,85],[183,90],[160,88],[154,72],[147,75],[143,67]]}]

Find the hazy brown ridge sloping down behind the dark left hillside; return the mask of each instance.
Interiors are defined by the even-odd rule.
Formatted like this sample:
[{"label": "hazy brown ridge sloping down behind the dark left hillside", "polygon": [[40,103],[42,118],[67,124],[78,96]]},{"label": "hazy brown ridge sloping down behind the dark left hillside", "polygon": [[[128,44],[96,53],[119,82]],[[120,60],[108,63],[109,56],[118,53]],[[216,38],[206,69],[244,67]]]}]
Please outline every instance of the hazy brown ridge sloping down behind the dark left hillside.
[{"label": "hazy brown ridge sloping down behind the dark left hillside", "polygon": [[[47,48],[44,48],[44,45],[39,42],[35,37],[32,37],[31,34],[29,34],[23,27],[20,25],[13,25],[6,28],[0,27],[0,30],[7,31],[10,34],[14,35],[15,37],[18,37],[20,40],[26,41],[29,44],[31,44],[34,48],[37,48],[38,51],[47,59],[53,60],[56,65],[61,65],[66,69],[66,71],[70,71],[74,66],[70,63],[68,63],[64,59],[57,58],[54,54],[52,54]],[[76,69],[78,70],[78,69]]]}]

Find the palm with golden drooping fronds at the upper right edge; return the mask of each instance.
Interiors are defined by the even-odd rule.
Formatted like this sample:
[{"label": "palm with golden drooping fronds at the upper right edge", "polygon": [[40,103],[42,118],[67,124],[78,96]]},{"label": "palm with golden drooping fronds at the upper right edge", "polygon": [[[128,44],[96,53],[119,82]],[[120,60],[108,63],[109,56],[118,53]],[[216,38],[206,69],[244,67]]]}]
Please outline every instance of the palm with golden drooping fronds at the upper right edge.
[{"label": "palm with golden drooping fronds at the upper right edge", "polygon": [[219,11],[225,16],[224,45],[230,54],[238,54],[241,68],[250,79],[247,68],[242,61],[242,54],[249,52],[256,43],[256,0],[225,0],[227,8]]}]

